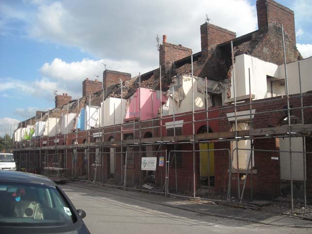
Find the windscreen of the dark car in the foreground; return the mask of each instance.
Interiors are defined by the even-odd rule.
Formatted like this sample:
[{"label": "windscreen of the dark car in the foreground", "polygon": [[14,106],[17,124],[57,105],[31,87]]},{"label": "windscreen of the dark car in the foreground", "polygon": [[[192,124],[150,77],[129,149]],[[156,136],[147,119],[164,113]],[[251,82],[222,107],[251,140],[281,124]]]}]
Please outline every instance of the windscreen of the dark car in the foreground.
[{"label": "windscreen of the dark car in the foreground", "polygon": [[55,186],[0,182],[0,226],[69,226],[77,221]]}]

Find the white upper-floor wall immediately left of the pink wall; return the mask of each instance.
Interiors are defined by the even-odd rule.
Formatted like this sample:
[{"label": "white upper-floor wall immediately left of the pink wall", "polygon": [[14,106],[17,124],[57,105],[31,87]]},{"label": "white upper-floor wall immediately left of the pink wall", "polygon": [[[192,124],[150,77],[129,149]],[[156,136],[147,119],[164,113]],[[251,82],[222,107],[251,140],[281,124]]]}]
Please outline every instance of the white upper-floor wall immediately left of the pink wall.
[{"label": "white upper-floor wall immediately left of the pink wall", "polygon": [[[124,121],[124,118],[126,116],[126,102],[127,100],[122,100],[122,121]],[[115,109],[114,109],[114,103],[115,103]],[[114,125],[114,111],[115,111],[115,124],[120,124],[120,110],[121,100],[118,98],[107,98],[104,100],[104,104],[102,102],[101,107],[99,109],[99,116],[100,116],[100,126],[110,126]],[[104,115],[103,115],[104,113]]]}]

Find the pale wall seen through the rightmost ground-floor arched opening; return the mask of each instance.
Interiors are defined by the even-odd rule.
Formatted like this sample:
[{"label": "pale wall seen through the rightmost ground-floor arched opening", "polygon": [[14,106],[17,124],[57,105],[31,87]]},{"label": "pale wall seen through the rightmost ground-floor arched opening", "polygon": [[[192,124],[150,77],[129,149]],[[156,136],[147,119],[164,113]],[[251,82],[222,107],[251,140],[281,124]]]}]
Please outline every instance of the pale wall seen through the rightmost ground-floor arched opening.
[{"label": "pale wall seen through the rightmost ground-floor arched opening", "polygon": [[[279,138],[279,150],[289,150],[289,139]],[[292,137],[292,150],[302,151],[302,138]],[[279,152],[280,155],[280,179],[290,180],[290,158],[289,153]],[[303,181],[303,155],[292,153],[293,157],[293,180]]]}]

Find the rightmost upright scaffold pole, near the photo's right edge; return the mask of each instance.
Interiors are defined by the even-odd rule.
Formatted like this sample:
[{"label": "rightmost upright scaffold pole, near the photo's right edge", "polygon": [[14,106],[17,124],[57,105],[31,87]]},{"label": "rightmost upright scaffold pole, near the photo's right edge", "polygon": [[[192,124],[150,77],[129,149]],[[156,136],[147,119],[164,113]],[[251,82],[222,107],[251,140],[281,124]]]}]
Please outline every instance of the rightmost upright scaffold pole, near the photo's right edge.
[{"label": "rightmost upright scaffold pole, near the photo's right edge", "polygon": [[[299,70],[299,86],[300,86],[300,104],[301,104],[301,124],[304,124],[303,116],[303,99],[302,99],[302,81],[301,81],[301,69],[300,62],[298,62]],[[307,207],[307,159],[306,159],[306,138],[302,137],[302,151],[303,151],[303,199],[304,207]]]}]

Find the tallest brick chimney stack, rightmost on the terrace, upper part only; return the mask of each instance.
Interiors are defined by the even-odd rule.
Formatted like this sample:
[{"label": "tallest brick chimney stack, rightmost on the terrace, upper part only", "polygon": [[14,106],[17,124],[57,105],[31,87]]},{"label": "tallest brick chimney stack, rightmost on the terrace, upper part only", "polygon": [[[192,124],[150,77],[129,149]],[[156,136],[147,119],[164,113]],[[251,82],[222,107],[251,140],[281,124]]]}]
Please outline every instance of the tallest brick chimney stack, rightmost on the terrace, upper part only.
[{"label": "tallest brick chimney stack, rightmost on the terrace, upper part only", "polygon": [[294,11],[273,0],[257,0],[256,5],[259,31],[266,32],[270,26],[282,24],[289,39],[296,44]]}]

